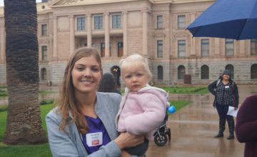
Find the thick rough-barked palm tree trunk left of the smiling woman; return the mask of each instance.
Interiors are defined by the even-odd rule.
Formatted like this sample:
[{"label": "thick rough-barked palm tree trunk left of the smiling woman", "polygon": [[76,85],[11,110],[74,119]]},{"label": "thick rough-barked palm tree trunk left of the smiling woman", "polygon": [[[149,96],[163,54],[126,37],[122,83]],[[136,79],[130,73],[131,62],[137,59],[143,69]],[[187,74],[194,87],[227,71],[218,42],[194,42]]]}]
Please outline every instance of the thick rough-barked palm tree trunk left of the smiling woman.
[{"label": "thick rough-barked palm tree trunk left of the smiling woman", "polygon": [[9,106],[4,143],[46,143],[39,106],[35,0],[4,0]]}]

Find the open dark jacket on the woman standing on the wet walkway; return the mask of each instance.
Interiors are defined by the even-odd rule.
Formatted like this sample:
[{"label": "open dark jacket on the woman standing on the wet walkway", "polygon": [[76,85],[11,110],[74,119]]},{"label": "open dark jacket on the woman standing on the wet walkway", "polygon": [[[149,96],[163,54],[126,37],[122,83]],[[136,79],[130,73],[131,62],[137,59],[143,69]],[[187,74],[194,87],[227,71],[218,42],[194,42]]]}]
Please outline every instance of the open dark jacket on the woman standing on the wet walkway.
[{"label": "open dark jacket on the woman standing on the wet walkway", "polygon": [[[217,89],[217,83],[221,83],[222,78],[220,77],[218,80],[213,81],[211,84],[208,85],[208,90],[215,96],[214,101],[213,101],[213,106],[216,106],[216,89]],[[236,86],[236,83],[229,79],[229,82],[231,82],[231,88],[233,91],[233,107],[238,108],[238,101],[239,101],[239,96],[238,96],[238,87]]]}]

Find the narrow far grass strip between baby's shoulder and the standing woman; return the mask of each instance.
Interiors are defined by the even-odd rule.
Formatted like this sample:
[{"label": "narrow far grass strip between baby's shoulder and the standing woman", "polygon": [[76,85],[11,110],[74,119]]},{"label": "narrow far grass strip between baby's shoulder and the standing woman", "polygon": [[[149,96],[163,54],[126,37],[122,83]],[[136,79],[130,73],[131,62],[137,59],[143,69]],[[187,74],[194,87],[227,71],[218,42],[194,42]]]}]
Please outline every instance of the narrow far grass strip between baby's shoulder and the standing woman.
[{"label": "narrow far grass strip between baby's shoulder and the standing woman", "polygon": [[192,87],[184,87],[184,86],[162,86],[159,88],[163,88],[165,91],[169,93],[208,93],[208,88],[206,86],[192,86]]}]

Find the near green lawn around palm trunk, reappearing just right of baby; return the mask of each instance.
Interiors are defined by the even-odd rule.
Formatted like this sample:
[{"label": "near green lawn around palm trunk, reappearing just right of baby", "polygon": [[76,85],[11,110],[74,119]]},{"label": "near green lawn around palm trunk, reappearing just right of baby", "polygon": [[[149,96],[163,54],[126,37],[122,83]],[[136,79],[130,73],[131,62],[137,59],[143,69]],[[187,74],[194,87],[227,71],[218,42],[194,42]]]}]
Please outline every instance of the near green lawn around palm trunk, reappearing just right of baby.
[{"label": "near green lawn around palm trunk, reappearing just right of baby", "polygon": [[[188,105],[191,101],[170,101],[170,103],[176,107],[176,111]],[[46,114],[53,108],[54,105],[41,105],[41,119],[43,120],[43,128],[46,131]],[[50,157],[51,151],[49,143],[39,145],[23,145],[23,146],[11,146],[2,142],[4,137],[4,131],[6,126],[6,107],[0,106],[0,154],[1,157]]]}]

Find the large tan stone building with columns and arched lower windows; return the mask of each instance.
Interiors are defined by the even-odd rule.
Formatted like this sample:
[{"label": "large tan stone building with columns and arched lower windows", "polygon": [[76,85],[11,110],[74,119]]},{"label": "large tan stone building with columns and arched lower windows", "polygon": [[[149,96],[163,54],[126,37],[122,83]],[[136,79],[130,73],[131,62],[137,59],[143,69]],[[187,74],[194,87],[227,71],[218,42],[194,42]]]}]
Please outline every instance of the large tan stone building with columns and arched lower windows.
[{"label": "large tan stone building with columns and arched lower windows", "polygon": [[[59,84],[81,46],[101,54],[120,80],[119,60],[148,58],[151,83],[206,84],[230,69],[236,83],[257,84],[257,40],[192,38],[186,26],[213,0],[51,0],[37,4],[40,83]],[[0,9],[0,83],[6,83],[4,9]],[[188,82],[187,82],[188,83]]]}]

